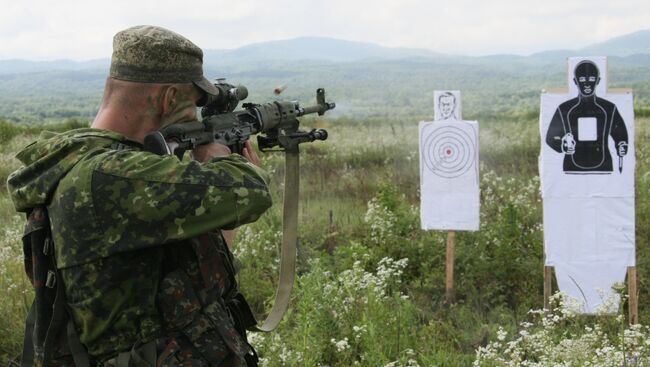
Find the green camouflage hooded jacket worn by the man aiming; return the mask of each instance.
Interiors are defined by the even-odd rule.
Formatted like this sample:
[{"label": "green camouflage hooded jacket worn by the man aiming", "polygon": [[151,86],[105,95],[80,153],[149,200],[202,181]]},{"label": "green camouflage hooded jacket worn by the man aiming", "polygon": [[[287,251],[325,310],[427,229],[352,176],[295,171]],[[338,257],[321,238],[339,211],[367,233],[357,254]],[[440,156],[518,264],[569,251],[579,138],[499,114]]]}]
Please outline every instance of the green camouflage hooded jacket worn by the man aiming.
[{"label": "green camouflage hooded jacket worn by the man aiming", "polygon": [[182,281],[196,283],[196,237],[252,222],[271,205],[265,173],[241,156],[201,164],[141,149],[105,130],[43,133],[8,179],[17,211],[48,208],[67,303],[98,360],[167,327],[156,298],[170,249],[190,259]]}]

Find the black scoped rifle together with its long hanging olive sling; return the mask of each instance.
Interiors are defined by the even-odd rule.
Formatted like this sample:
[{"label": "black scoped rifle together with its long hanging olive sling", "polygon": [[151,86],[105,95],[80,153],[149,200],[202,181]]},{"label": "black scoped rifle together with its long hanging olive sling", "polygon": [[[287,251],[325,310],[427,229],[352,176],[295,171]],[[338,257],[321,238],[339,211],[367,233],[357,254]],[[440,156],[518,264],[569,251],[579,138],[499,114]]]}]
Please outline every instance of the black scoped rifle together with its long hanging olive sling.
[{"label": "black scoped rifle together with its long hanging olive sling", "polygon": [[145,149],[160,155],[175,154],[179,158],[187,150],[202,144],[218,142],[227,145],[234,153],[241,154],[244,143],[257,135],[261,151],[285,152],[284,205],[282,215],[282,248],[280,280],[271,312],[261,326],[252,325],[251,330],[275,329],[286,312],[293,287],[298,242],[298,193],[299,193],[299,144],[327,139],[327,131],[313,129],[300,131],[299,117],[317,113],[322,116],[333,109],[333,102],[325,101],[325,90],[316,90],[316,104],[301,107],[298,102],[244,103],[243,109],[235,110],[241,100],[248,96],[243,86],[233,86],[217,80],[216,96],[210,96],[201,110],[202,121],[172,124],[147,135]]}]

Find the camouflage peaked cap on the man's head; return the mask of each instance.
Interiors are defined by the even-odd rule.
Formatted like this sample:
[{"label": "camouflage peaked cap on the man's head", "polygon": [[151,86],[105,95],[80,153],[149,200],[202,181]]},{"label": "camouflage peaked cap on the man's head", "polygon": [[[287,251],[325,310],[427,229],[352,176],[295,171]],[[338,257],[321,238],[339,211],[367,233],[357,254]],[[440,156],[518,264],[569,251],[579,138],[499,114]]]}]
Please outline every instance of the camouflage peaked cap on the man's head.
[{"label": "camouflage peaked cap on the man's head", "polygon": [[203,51],[168,29],[139,25],[113,37],[111,78],[140,83],[194,83],[203,91],[219,91],[203,76]]}]

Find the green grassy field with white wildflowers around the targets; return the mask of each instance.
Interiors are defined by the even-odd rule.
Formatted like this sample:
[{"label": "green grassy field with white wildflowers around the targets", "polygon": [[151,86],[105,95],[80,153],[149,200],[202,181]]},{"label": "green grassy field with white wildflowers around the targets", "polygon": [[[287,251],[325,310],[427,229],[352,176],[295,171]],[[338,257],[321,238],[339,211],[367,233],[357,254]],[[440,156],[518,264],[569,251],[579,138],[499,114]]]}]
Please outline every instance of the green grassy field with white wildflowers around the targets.
[{"label": "green grassy field with white wildflowers around the targets", "polygon": [[[330,137],[302,148],[298,278],[292,307],[278,331],[252,336],[263,365],[532,366],[548,361],[540,357],[546,352],[537,351],[546,348],[556,358],[561,353],[552,351],[559,349],[583,355],[604,350],[609,359],[594,365],[620,366],[636,365],[631,359],[635,351],[650,350],[643,344],[650,340],[647,330],[630,334],[625,317],[559,314],[548,324],[544,315],[529,312],[543,305],[538,123],[478,119],[481,229],[457,234],[457,301],[452,305],[444,302],[446,233],[419,229],[417,121],[303,121],[327,128]],[[650,320],[650,119],[637,119],[636,126],[643,324]],[[37,129],[5,130],[9,132],[0,133],[2,185],[18,167],[13,154],[34,139]],[[241,288],[260,315],[269,309],[275,291],[282,163],[278,153],[263,156],[264,166],[273,172],[275,205],[261,220],[242,228],[236,244],[244,264]],[[0,365],[11,366],[20,353],[31,293],[22,269],[23,219],[13,213],[5,192],[3,187]],[[539,339],[516,344],[522,333]],[[641,342],[631,346],[634,338]],[[583,339],[590,342],[578,344]],[[575,348],[567,347],[567,341]],[[516,345],[507,351],[506,342]],[[502,349],[494,343],[502,343]],[[477,357],[477,350],[488,345]],[[524,350],[520,354],[530,363],[512,362],[522,358],[513,357],[513,350]],[[565,360],[572,361],[567,354]]]}]

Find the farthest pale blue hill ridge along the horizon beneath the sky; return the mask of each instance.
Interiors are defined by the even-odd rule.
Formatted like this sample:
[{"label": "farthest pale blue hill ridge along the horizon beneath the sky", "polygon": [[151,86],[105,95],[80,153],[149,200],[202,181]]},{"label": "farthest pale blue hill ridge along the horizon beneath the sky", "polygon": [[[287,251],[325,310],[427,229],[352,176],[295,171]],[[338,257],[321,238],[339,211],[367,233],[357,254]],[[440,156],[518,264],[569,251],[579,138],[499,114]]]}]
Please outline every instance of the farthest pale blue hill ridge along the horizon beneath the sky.
[{"label": "farthest pale blue hill ridge along the horizon beneath the sky", "polygon": [[[384,47],[374,43],[346,41],[324,37],[300,37],[280,41],[254,43],[229,50],[205,50],[206,69],[221,72],[256,72],[274,75],[277,68],[284,69],[287,62],[305,61],[323,65],[377,60],[423,59],[439,62],[469,64],[527,64],[539,65],[561,61],[569,56],[606,55],[622,64],[648,65],[650,55],[650,30],[589,45],[575,50],[548,50],[530,56],[489,55],[470,57],[449,55],[422,48]],[[72,61],[0,60],[0,75],[32,73],[50,70],[104,70],[108,71],[109,58]]]}]

